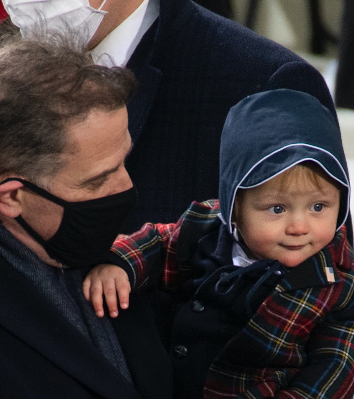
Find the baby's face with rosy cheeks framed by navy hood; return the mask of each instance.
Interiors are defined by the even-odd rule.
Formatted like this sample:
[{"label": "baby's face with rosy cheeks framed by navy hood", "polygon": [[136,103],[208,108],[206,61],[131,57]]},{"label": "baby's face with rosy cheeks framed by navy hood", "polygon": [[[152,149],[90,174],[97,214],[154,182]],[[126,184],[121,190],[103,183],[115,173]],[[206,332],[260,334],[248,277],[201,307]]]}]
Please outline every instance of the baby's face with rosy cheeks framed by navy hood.
[{"label": "baby's face with rosy cheeks framed by navy hood", "polygon": [[340,192],[321,176],[321,188],[309,179],[297,179],[284,190],[279,176],[244,190],[237,230],[255,259],[294,267],[333,239]]}]

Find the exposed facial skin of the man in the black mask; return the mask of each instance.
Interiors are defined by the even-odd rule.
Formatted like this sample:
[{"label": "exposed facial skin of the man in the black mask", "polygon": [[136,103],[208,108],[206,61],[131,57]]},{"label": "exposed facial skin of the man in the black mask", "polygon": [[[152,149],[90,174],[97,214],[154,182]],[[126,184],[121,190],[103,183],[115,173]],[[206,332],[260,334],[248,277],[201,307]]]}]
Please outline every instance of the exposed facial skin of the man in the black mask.
[{"label": "exposed facial skin of the man in the black mask", "polygon": [[[126,107],[91,110],[67,129],[65,162],[50,184],[52,194],[67,201],[106,197],[133,186],[124,160],[131,148]],[[22,217],[44,239],[57,232],[63,208],[25,190]]]}]

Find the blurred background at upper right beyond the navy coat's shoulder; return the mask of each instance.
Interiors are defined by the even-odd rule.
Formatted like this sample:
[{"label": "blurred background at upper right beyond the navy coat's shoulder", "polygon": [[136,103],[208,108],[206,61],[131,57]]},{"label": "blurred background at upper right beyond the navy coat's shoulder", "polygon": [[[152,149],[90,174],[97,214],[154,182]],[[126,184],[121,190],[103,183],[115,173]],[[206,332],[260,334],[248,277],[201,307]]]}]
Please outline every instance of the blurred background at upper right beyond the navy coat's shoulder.
[{"label": "blurred background at upper right beyond the navy coat's shoulder", "polygon": [[[324,76],[354,187],[354,0],[195,0],[293,50]],[[351,199],[354,214],[354,196]]]}]

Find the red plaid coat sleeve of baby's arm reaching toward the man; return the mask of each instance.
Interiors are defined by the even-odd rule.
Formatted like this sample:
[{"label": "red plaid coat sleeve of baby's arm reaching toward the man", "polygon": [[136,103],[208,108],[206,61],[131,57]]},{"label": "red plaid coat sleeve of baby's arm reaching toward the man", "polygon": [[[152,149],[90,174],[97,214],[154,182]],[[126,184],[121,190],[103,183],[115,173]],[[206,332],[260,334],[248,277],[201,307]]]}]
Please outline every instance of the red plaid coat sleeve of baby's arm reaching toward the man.
[{"label": "red plaid coat sleeve of baby's arm reaching toward the man", "polygon": [[111,248],[108,263],[128,273],[133,291],[143,288],[174,291],[189,278],[185,258],[193,252],[200,236],[213,228],[219,211],[217,199],[193,201],[177,223],[146,223],[136,233],[120,234]]}]

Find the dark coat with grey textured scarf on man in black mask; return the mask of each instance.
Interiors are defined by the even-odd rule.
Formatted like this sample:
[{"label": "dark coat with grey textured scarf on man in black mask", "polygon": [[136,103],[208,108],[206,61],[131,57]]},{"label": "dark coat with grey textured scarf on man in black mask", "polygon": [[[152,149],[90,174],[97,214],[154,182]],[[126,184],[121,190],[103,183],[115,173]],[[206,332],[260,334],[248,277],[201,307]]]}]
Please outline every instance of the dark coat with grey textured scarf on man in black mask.
[{"label": "dark coat with grey textured scarf on man in black mask", "polygon": [[132,299],[129,314],[98,319],[85,273],[44,264],[0,226],[0,398],[171,398],[170,361],[147,306]]}]

